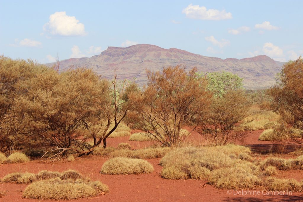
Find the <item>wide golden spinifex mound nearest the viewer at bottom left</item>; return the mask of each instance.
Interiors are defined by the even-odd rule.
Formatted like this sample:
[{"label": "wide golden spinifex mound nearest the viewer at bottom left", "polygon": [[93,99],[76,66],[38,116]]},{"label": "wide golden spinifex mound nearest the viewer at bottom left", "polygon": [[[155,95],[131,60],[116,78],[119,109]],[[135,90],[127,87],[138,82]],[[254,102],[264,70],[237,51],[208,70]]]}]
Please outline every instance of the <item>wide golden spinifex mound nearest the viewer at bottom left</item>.
[{"label": "wide golden spinifex mound nearest the viewer at bottom left", "polygon": [[108,193],[108,187],[99,181],[42,180],[34,182],[23,192],[22,197],[39,200],[71,200]]}]

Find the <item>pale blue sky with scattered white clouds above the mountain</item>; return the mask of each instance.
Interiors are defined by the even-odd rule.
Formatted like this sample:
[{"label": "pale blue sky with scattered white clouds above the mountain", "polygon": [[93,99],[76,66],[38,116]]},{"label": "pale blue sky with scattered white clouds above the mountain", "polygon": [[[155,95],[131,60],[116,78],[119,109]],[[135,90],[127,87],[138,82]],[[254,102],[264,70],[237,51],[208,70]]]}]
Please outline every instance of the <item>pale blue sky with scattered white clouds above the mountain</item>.
[{"label": "pale blue sky with scattered white clouds above the mountain", "polygon": [[153,44],[218,58],[303,55],[303,1],[0,0],[0,55],[40,63]]}]

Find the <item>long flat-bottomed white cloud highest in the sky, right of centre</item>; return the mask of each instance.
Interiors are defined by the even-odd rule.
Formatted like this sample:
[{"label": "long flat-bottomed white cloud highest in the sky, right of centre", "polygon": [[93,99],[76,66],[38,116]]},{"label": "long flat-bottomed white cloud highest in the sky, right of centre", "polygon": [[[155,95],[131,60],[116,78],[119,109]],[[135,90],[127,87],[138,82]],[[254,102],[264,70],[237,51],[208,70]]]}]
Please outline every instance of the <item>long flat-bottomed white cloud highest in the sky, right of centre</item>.
[{"label": "long flat-bottomed white cloud highest in the sky, right of centre", "polygon": [[200,19],[200,20],[224,20],[232,19],[231,13],[225,10],[219,11],[216,9],[206,9],[205,6],[199,5],[188,5],[183,9],[182,13],[186,15],[187,18]]}]

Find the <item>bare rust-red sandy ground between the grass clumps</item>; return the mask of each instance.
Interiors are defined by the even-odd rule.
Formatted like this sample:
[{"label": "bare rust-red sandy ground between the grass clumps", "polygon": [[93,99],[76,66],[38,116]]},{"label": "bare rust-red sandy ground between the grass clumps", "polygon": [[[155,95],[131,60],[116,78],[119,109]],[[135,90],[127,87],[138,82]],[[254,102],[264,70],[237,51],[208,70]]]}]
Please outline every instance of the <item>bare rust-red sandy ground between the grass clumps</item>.
[{"label": "bare rust-red sandy ground between the grass clumps", "polygon": [[[262,131],[249,133],[239,144],[249,145],[258,151],[258,148],[268,152],[271,142],[258,141]],[[194,134],[192,141],[203,141],[201,136]],[[151,145],[150,142],[131,142],[128,137],[108,139],[108,146],[117,146],[118,143],[128,142],[135,148],[143,148]],[[289,157],[289,155],[285,155]],[[30,163],[19,164],[1,164],[0,177],[12,172],[33,172],[40,170],[64,171],[68,169],[78,170],[81,174],[90,177],[92,180],[100,180],[108,185],[110,193],[104,196],[79,199],[72,201],[303,201],[301,193],[292,193],[289,195],[266,195],[262,190],[249,190],[251,194],[237,193],[231,190],[218,190],[203,180],[165,180],[161,178],[161,166],[158,165],[160,159],[148,160],[155,168],[151,174],[141,175],[102,175],[99,173],[102,164],[107,159],[104,157],[84,157],[78,158],[73,162],[46,162],[33,160]],[[303,179],[303,171],[279,171],[281,178]],[[22,192],[27,185],[0,183],[0,191],[7,190],[7,194],[0,198],[0,201],[39,201],[22,199]],[[247,190],[245,190],[247,191]],[[253,193],[252,193],[253,191]]]}]

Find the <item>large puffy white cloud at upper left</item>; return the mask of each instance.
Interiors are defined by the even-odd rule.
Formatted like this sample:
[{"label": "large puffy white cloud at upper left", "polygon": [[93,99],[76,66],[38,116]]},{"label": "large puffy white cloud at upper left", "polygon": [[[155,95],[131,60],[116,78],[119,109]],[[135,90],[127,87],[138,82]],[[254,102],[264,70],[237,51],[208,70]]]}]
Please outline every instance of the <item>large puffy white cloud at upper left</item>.
[{"label": "large puffy white cloud at upper left", "polygon": [[49,22],[43,26],[45,32],[51,35],[83,36],[86,34],[84,24],[75,16],[68,16],[66,12],[55,12],[49,16]]}]

